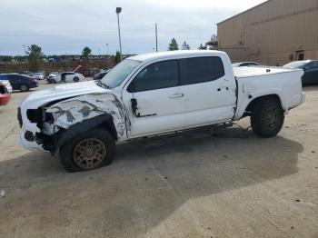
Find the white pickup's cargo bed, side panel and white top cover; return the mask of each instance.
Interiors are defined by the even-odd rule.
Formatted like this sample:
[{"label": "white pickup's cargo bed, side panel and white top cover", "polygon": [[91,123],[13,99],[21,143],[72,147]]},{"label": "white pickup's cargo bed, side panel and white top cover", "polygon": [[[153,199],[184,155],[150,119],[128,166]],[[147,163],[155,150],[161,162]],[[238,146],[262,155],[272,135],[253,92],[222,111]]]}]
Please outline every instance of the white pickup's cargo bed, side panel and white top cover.
[{"label": "white pickup's cargo bed, side panel and white top cover", "polygon": [[234,67],[237,82],[237,108],[234,115],[239,120],[247,105],[263,95],[277,95],[282,109],[287,112],[302,104],[303,70],[279,67]]}]

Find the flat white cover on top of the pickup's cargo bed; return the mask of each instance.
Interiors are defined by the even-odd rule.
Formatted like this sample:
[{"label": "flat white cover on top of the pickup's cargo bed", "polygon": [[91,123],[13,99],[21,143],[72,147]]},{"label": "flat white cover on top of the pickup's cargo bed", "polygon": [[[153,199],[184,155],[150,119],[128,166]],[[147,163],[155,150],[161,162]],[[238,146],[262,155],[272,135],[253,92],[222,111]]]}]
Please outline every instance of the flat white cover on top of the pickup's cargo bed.
[{"label": "flat white cover on top of the pickup's cargo bed", "polygon": [[283,69],[279,67],[269,67],[269,66],[249,66],[249,67],[234,67],[234,76],[237,79],[244,77],[253,77],[268,74],[282,74],[294,71],[299,71],[299,69]]}]

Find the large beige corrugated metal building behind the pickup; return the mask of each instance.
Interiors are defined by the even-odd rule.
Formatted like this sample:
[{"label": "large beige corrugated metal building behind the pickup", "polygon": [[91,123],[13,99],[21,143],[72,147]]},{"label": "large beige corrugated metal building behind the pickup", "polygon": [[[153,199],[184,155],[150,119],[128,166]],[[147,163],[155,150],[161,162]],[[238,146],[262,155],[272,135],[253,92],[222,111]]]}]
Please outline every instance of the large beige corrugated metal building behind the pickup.
[{"label": "large beige corrugated metal building behind the pickup", "polygon": [[233,62],[318,59],[318,0],[269,0],[217,25]]}]

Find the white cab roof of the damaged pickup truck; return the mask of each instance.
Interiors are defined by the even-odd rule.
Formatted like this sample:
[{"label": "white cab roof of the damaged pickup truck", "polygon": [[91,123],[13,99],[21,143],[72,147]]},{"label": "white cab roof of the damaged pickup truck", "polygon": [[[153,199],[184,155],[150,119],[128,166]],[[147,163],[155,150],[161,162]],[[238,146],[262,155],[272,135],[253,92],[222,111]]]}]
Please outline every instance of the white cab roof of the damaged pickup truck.
[{"label": "white cab roof of the damaged pickup truck", "polygon": [[129,57],[128,59],[138,60],[138,61],[146,61],[146,60],[154,60],[161,58],[174,58],[175,56],[208,56],[208,55],[225,55],[222,51],[214,51],[214,50],[178,50],[178,51],[164,51],[158,53],[150,53],[144,55],[134,55]]}]

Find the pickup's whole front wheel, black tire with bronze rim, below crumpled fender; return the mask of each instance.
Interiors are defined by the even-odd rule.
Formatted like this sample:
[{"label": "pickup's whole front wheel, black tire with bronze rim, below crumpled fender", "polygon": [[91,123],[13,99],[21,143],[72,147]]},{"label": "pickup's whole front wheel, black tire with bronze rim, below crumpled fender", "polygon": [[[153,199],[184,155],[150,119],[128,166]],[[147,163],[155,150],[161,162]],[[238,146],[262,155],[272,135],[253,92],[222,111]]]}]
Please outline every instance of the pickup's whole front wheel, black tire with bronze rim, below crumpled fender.
[{"label": "pickup's whole front wheel, black tire with bronze rim, below crumpled fender", "polygon": [[112,164],[114,152],[112,134],[96,127],[66,142],[60,148],[60,161],[67,172],[89,171]]}]

